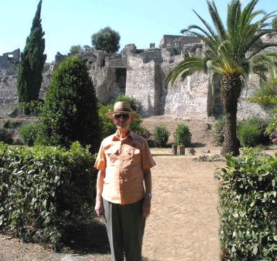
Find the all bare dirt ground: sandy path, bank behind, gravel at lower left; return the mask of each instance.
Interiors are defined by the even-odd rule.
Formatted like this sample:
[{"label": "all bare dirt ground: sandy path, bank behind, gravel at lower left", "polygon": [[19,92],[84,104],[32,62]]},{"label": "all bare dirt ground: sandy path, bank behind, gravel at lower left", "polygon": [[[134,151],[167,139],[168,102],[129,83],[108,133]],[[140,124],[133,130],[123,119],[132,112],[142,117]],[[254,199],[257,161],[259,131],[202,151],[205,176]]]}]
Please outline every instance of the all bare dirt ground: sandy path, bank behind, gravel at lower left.
[{"label": "all bare dirt ground: sandy path, bank behind, gravel at lower left", "polygon": [[[224,162],[195,160],[199,155],[220,153],[220,148],[211,144],[213,121],[179,121],[168,117],[143,120],[150,131],[157,124],[164,124],[171,133],[180,123],[187,124],[193,133],[196,154],[177,156],[171,155],[170,148],[151,149],[157,166],[152,169],[152,213],[146,223],[143,257],[145,261],[217,261],[220,260],[220,224],[218,181],[214,171],[216,167],[223,167]],[[170,142],[172,139],[170,135]],[[93,236],[82,237],[83,249],[74,249],[73,240],[65,253],[53,253],[37,244],[0,235],[0,261],[110,260],[105,226],[98,229],[99,240],[93,230]]]}]

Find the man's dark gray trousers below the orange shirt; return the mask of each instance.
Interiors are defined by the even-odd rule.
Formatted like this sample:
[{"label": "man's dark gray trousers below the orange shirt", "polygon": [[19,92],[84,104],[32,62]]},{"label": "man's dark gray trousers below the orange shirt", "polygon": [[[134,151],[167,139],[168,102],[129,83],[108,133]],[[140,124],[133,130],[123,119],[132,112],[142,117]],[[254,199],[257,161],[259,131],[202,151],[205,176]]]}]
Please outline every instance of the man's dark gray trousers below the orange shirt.
[{"label": "man's dark gray trousers below the orange shirt", "polygon": [[141,261],[141,249],[145,218],[143,217],[143,201],[120,205],[102,199],[105,209],[105,220],[111,260],[123,261],[124,253],[127,261]]}]

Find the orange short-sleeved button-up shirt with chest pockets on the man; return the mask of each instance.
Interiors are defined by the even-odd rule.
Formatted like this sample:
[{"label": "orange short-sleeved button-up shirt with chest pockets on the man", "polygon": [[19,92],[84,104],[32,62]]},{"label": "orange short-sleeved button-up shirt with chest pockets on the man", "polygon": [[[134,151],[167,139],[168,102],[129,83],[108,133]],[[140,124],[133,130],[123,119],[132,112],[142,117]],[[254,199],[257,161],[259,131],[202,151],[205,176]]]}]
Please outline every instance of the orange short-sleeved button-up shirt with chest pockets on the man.
[{"label": "orange short-sleeved button-up shirt with chest pockets on the man", "polygon": [[132,204],[145,196],[143,169],[156,165],[146,140],[130,133],[119,140],[117,133],[106,137],[94,167],[105,170],[102,197],[121,205]]}]

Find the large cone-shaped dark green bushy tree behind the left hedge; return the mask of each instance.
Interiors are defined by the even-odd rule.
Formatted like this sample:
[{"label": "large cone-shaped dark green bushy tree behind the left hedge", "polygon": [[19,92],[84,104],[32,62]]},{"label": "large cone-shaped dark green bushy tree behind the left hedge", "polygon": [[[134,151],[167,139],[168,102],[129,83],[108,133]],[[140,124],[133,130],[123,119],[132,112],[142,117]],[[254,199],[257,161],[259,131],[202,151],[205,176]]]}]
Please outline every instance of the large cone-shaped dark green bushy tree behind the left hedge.
[{"label": "large cone-shaped dark green bushy tree behind the left hedge", "polygon": [[98,151],[100,124],[98,100],[87,65],[69,57],[53,73],[39,118],[37,142],[69,147],[78,141]]}]

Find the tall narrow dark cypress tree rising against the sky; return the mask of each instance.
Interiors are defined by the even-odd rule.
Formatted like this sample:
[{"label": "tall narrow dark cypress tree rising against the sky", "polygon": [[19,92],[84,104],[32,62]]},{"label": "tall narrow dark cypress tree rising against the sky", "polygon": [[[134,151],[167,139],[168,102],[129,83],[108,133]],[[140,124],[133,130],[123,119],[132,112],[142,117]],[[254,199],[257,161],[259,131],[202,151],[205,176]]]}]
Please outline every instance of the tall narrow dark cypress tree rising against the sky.
[{"label": "tall narrow dark cypress tree rising against the sky", "polygon": [[26,46],[21,53],[17,78],[19,103],[39,99],[39,90],[42,86],[42,69],[46,61],[44,31],[42,31],[42,19],[40,18],[41,10],[42,0],[37,5],[30,35],[27,37]]}]

